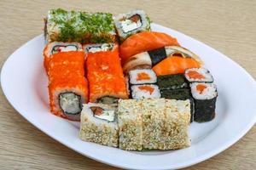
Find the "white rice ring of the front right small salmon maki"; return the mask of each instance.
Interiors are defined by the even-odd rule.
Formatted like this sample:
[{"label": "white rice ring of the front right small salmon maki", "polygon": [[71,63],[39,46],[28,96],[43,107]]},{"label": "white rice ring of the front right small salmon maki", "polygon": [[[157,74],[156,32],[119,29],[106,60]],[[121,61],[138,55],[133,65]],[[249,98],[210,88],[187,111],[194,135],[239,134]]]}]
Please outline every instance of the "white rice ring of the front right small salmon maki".
[{"label": "white rice ring of the front right small salmon maki", "polygon": [[[196,86],[199,84],[207,86],[207,88],[205,88],[202,93],[196,89]],[[217,88],[213,83],[193,82],[190,84],[190,88],[194,99],[213,99],[217,97]]]}]

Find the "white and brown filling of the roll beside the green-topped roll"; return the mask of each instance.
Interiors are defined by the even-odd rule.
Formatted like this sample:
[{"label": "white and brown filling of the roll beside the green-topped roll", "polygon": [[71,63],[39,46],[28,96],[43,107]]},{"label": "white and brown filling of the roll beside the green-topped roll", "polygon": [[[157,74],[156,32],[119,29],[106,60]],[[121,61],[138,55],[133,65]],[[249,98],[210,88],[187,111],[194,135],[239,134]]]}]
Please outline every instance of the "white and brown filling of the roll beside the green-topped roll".
[{"label": "white and brown filling of the roll beside the green-topped roll", "polygon": [[141,16],[139,14],[134,14],[128,19],[120,20],[120,24],[125,33],[143,26]]}]

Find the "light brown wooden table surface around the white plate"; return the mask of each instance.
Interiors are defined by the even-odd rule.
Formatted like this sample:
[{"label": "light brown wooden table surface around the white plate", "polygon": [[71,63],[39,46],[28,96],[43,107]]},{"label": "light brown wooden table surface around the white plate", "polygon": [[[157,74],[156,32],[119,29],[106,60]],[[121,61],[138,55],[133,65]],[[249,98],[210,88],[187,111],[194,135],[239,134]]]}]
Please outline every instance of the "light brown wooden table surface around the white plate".
[{"label": "light brown wooden table surface around the white plate", "polygon": [[[143,8],[154,22],[207,43],[256,77],[256,1],[1,0],[0,7],[1,67],[16,48],[43,32],[49,8],[113,14]],[[0,112],[0,169],[115,169],[50,139],[21,117],[2,91]],[[256,126],[228,150],[187,169],[253,169],[255,148]]]}]

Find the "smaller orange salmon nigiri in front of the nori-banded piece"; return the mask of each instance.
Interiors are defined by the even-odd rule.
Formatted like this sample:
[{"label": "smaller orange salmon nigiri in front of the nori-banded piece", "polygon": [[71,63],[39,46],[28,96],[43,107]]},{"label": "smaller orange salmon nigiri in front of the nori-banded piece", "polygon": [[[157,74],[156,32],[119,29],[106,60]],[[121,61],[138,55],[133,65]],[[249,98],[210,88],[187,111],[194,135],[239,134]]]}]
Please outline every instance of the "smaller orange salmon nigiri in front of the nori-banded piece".
[{"label": "smaller orange salmon nigiri in front of the nori-banded piece", "polygon": [[199,68],[201,63],[193,58],[183,58],[181,56],[172,56],[162,60],[159,64],[154,65],[153,71],[157,76],[173,75],[184,73],[189,68]]}]

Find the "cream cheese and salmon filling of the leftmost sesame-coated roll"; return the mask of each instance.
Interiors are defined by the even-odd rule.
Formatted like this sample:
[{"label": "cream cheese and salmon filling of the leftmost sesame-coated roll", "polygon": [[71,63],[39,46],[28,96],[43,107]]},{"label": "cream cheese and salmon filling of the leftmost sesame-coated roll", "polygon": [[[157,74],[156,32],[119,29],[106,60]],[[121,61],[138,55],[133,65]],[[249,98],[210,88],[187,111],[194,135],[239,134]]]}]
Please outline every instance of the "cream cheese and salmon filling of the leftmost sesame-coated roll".
[{"label": "cream cheese and salmon filling of the leftmost sesame-coated roll", "polygon": [[93,112],[93,116],[102,119],[104,121],[113,122],[114,121],[114,111],[104,110],[101,107],[92,106],[90,110]]}]

